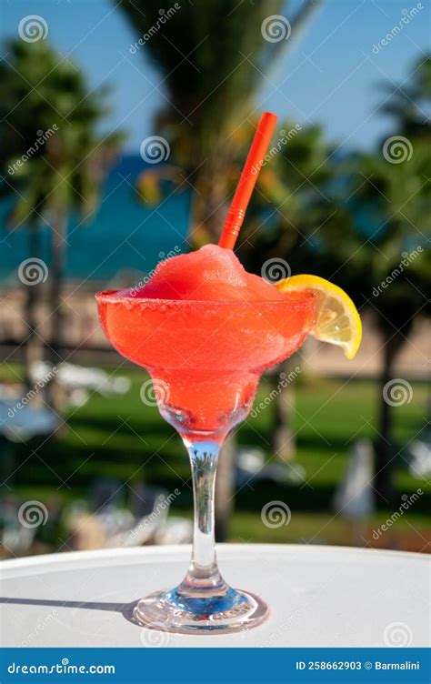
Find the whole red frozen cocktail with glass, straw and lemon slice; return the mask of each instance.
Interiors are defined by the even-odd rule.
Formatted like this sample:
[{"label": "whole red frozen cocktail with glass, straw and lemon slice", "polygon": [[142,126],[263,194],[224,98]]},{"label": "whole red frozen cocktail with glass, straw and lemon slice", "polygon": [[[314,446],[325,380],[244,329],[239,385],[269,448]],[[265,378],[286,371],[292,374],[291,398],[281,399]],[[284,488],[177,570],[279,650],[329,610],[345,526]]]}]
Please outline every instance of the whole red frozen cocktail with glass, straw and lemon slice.
[{"label": "whole red frozen cocktail with glass, straw and lemon slice", "polygon": [[153,378],[160,413],[183,439],[192,468],[188,572],[174,589],[137,602],[135,620],[146,627],[205,634],[250,629],[266,619],[265,601],[229,587],[217,567],[220,448],[251,410],[262,373],[293,354],[308,333],[344,347],[348,358],[360,343],[359,316],[339,287],[315,276],[284,278],[273,287],[246,273],[232,251],[275,126],[276,116],[264,112],[218,246],[166,259],[137,290],[96,295],[106,337]]}]

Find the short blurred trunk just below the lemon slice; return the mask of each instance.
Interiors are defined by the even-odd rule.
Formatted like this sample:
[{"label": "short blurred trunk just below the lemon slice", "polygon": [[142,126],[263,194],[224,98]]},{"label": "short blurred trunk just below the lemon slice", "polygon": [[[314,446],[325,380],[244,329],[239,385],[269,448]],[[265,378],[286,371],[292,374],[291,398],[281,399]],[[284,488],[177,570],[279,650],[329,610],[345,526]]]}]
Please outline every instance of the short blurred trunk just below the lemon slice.
[{"label": "short blurred trunk just below the lemon slice", "polygon": [[278,370],[280,372],[276,373],[271,382],[272,389],[277,392],[272,448],[277,458],[288,461],[296,452],[296,439],[292,427],[295,414],[295,387],[288,379],[291,372],[290,359],[280,364]]}]

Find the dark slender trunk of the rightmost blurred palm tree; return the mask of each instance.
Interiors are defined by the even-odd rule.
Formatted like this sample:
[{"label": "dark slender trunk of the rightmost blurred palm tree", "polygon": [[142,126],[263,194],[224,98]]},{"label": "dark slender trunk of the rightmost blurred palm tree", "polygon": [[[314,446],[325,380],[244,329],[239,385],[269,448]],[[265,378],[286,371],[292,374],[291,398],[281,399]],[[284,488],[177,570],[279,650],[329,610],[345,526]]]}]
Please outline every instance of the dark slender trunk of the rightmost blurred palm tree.
[{"label": "dark slender trunk of the rightmost blurred palm tree", "polygon": [[376,477],[375,488],[377,502],[387,504],[394,498],[394,445],[392,437],[393,407],[387,401],[388,383],[394,377],[394,362],[399,348],[402,346],[402,337],[386,337],[383,349],[383,368],[379,383],[379,435],[376,442]]}]

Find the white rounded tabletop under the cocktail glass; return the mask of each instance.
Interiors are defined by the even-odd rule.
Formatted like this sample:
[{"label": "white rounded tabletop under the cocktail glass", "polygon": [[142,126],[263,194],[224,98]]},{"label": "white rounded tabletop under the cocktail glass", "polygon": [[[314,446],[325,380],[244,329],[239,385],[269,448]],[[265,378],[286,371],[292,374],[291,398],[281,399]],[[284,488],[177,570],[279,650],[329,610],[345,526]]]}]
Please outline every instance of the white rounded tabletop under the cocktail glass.
[{"label": "white rounded tabletop under the cocktail glass", "polygon": [[179,582],[189,554],[146,547],[3,561],[2,645],[429,646],[429,556],[359,548],[220,545],[226,580],[271,607],[264,625],[190,637],[133,624],[133,602]]}]

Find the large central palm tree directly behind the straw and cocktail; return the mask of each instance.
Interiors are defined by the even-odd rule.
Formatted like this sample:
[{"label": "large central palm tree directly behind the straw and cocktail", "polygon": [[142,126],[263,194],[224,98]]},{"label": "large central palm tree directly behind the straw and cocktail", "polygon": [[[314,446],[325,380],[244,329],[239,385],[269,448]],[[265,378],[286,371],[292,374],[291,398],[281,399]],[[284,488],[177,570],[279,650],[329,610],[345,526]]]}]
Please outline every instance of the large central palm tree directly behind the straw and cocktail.
[{"label": "large central palm tree directly behind the straw and cocktail", "polygon": [[[283,0],[206,0],[178,8],[175,4],[175,12],[165,12],[159,0],[120,0],[141,39],[132,45],[132,53],[149,54],[162,76],[166,105],[156,116],[155,128],[170,145],[169,176],[194,189],[191,245],[218,239],[244,161],[244,145],[253,134],[244,122],[254,112],[257,88],[320,2],[306,0],[294,14]],[[165,173],[162,170],[161,177]],[[152,169],[140,178],[144,195],[149,186],[157,196],[155,176]],[[226,538],[232,508],[233,457],[231,440],[217,475],[220,540]]]}]

